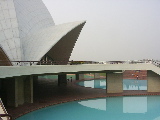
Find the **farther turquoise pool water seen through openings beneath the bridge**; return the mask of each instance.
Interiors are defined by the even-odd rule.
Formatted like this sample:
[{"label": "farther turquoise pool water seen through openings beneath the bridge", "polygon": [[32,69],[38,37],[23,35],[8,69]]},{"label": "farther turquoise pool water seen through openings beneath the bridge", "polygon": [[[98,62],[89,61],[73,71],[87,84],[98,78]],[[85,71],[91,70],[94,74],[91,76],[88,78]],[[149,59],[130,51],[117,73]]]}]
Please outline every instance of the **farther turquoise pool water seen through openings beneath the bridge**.
[{"label": "farther turquoise pool water seen through openings beneath the bridge", "polygon": [[[106,89],[106,80],[86,80],[77,83],[80,86]],[[124,79],[123,90],[147,90],[147,80]]]}]

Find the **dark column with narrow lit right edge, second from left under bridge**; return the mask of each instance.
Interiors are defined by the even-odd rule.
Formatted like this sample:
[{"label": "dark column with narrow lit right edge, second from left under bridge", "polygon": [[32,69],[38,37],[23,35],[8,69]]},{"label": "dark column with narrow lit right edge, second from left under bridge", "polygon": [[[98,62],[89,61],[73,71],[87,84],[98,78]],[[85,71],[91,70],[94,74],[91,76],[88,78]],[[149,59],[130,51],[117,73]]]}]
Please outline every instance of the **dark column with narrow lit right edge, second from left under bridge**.
[{"label": "dark column with narrow lit right edge, second from left under bridge", "polygon": [[27,103],[33,103],[33,76],[27,76],[24,80],[24,99]]}]

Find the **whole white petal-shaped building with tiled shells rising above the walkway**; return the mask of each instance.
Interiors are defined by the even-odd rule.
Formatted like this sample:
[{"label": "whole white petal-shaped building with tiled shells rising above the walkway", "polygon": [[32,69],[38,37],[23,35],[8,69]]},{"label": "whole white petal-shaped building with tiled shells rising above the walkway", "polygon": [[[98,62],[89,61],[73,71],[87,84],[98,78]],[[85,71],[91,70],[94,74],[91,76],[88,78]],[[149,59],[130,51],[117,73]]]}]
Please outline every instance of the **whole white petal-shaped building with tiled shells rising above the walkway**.
[{"label": "whole white petal-shaped building with tiled shells rising above the walkway", "polygon": [[[55,25],[42,0],[0,0],[0,47],[10,61],[39,61],[47,52],[60,59],[54,46],[60,41],[66,44],[66,40],[70,44],[73,39],[65,50],[67,60],[84,24],[79,21]],[[64,47],[59,46],[59,51]]]}]

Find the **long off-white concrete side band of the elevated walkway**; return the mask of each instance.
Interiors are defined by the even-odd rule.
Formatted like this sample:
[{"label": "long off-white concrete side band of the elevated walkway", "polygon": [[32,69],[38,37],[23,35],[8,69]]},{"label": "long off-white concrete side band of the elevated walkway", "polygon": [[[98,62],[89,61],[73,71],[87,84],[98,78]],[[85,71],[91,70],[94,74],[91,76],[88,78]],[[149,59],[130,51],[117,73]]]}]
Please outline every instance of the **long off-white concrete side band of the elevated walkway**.
[{"label": "long off-white concrete side band of the elevated walkway", "polygon": [[[79,71],[103,71],[103,70],[152,70],[152,64],[95,64],[95,65],[38,65],[38,66],[2,66],[0,67],[0,78],[60,73],[60,72],[79,72]],[[159,68],[160,69],[160,68]]]}]

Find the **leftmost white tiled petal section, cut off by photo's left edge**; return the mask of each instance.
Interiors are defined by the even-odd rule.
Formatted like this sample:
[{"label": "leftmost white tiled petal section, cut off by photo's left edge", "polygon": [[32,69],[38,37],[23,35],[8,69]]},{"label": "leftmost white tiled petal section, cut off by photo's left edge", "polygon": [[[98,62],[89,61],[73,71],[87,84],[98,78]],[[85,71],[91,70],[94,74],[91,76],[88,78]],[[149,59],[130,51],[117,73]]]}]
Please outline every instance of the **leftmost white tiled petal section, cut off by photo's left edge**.
[{"label": "leftmost white tiled petal section, cut off by photo's left edge", "polygon": [[11,61],[21,60],[18,21],[13,0],[0,0],[0,46]]}]

